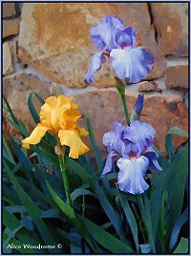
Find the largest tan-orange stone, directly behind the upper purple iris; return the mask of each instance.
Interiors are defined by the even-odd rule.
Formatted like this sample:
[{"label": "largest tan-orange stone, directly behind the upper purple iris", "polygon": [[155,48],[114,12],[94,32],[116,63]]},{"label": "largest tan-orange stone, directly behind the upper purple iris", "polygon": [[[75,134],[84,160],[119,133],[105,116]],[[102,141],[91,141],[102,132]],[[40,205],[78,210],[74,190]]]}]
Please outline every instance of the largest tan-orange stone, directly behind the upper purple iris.
[{"label": "largest tan-orange stone, directly behind the upper purple iris", "polygon": [[[114,14],[138,31],[138,45],[155,55],[149,78],[164,75],[165,61],[159,53],[146,3],[25,3],[19,33],[19,56],[56,83],[84,87],[84,75],[96,49],[90,28],[99,18]],[[110,64],[96,74],[96,86],[114,86]]]}]

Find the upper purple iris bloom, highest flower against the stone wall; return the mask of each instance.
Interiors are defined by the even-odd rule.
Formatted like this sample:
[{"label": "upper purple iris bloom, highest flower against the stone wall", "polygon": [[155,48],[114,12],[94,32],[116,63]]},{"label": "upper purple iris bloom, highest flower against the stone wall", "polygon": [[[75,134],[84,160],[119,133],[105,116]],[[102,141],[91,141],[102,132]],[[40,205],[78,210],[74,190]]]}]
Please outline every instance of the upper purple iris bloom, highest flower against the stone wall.
[{"label": "upper purple iris bloom, highest flower against the stone wall", "polygon": [[111,58],[118,78],[137,83],[145,78],[153,67],[154,57],[142,47],[136,47],[136,31],[125,27],[123,21],[107,15],[100,19],[98,26],[92,27],[91,38],[100,51],[96,53],[85,75],[86,83],[95,82],[94,74],[100,70],[106,57]]}]

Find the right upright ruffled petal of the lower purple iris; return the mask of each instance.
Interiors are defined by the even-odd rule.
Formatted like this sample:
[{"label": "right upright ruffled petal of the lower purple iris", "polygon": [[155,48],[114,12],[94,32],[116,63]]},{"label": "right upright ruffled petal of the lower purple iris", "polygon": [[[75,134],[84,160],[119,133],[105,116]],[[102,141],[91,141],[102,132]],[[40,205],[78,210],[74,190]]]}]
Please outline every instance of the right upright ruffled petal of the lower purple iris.
[{"label": "right upright ruffled petal of the lower purple iris", "polygon": [[147,150],[148,147],[153,145],[156,131],[153,126],[147,122],[136,120],[127,126],[123,132],[123,138],[134,141],[137,139],[137,147],[140,153]]}]

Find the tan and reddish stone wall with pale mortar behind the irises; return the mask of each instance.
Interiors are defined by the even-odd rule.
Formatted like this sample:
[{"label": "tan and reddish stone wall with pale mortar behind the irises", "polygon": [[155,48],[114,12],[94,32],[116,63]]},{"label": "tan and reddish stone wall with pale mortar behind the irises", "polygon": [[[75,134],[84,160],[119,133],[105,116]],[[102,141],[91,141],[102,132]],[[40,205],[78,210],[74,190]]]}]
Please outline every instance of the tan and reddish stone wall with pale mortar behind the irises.
[{"label": "tan and reddish stone wall with pale mortar behind the irises", "polygon": [[[141,118],[155,127],[156,144],[165,152],[164,137],[170,127],[188,130],[187,3],[3,3],[3,92],[30,129],[34,125],[27,108],[30,92],[44,98],[73,96],[82,112],[81,122],[89,115],[103,149],[104,132],[113,129],[114,121],[123,120],[114,72],[104,64],[91,86],[84,83],[84,74],[96,53],[90,28],[107,14],[135,27],[137,44],[155,56],[151,73],[127,86],[126,95],[131,110],[138,92],[144,92]],[[175,139],[177,147],[184,141]]]}]

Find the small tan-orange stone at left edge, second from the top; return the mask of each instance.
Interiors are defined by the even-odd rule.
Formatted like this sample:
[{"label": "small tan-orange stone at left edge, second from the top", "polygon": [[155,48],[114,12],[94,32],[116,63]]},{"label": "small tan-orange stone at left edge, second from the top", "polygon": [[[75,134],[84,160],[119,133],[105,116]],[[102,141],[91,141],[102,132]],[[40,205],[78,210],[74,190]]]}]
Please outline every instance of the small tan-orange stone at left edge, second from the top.
[{"label": "small tan-orange stone at left edge, second from the top", "polygon": [[19,32],[19,19],[11,19],[3,21],[3,38],[16,35]]}]

